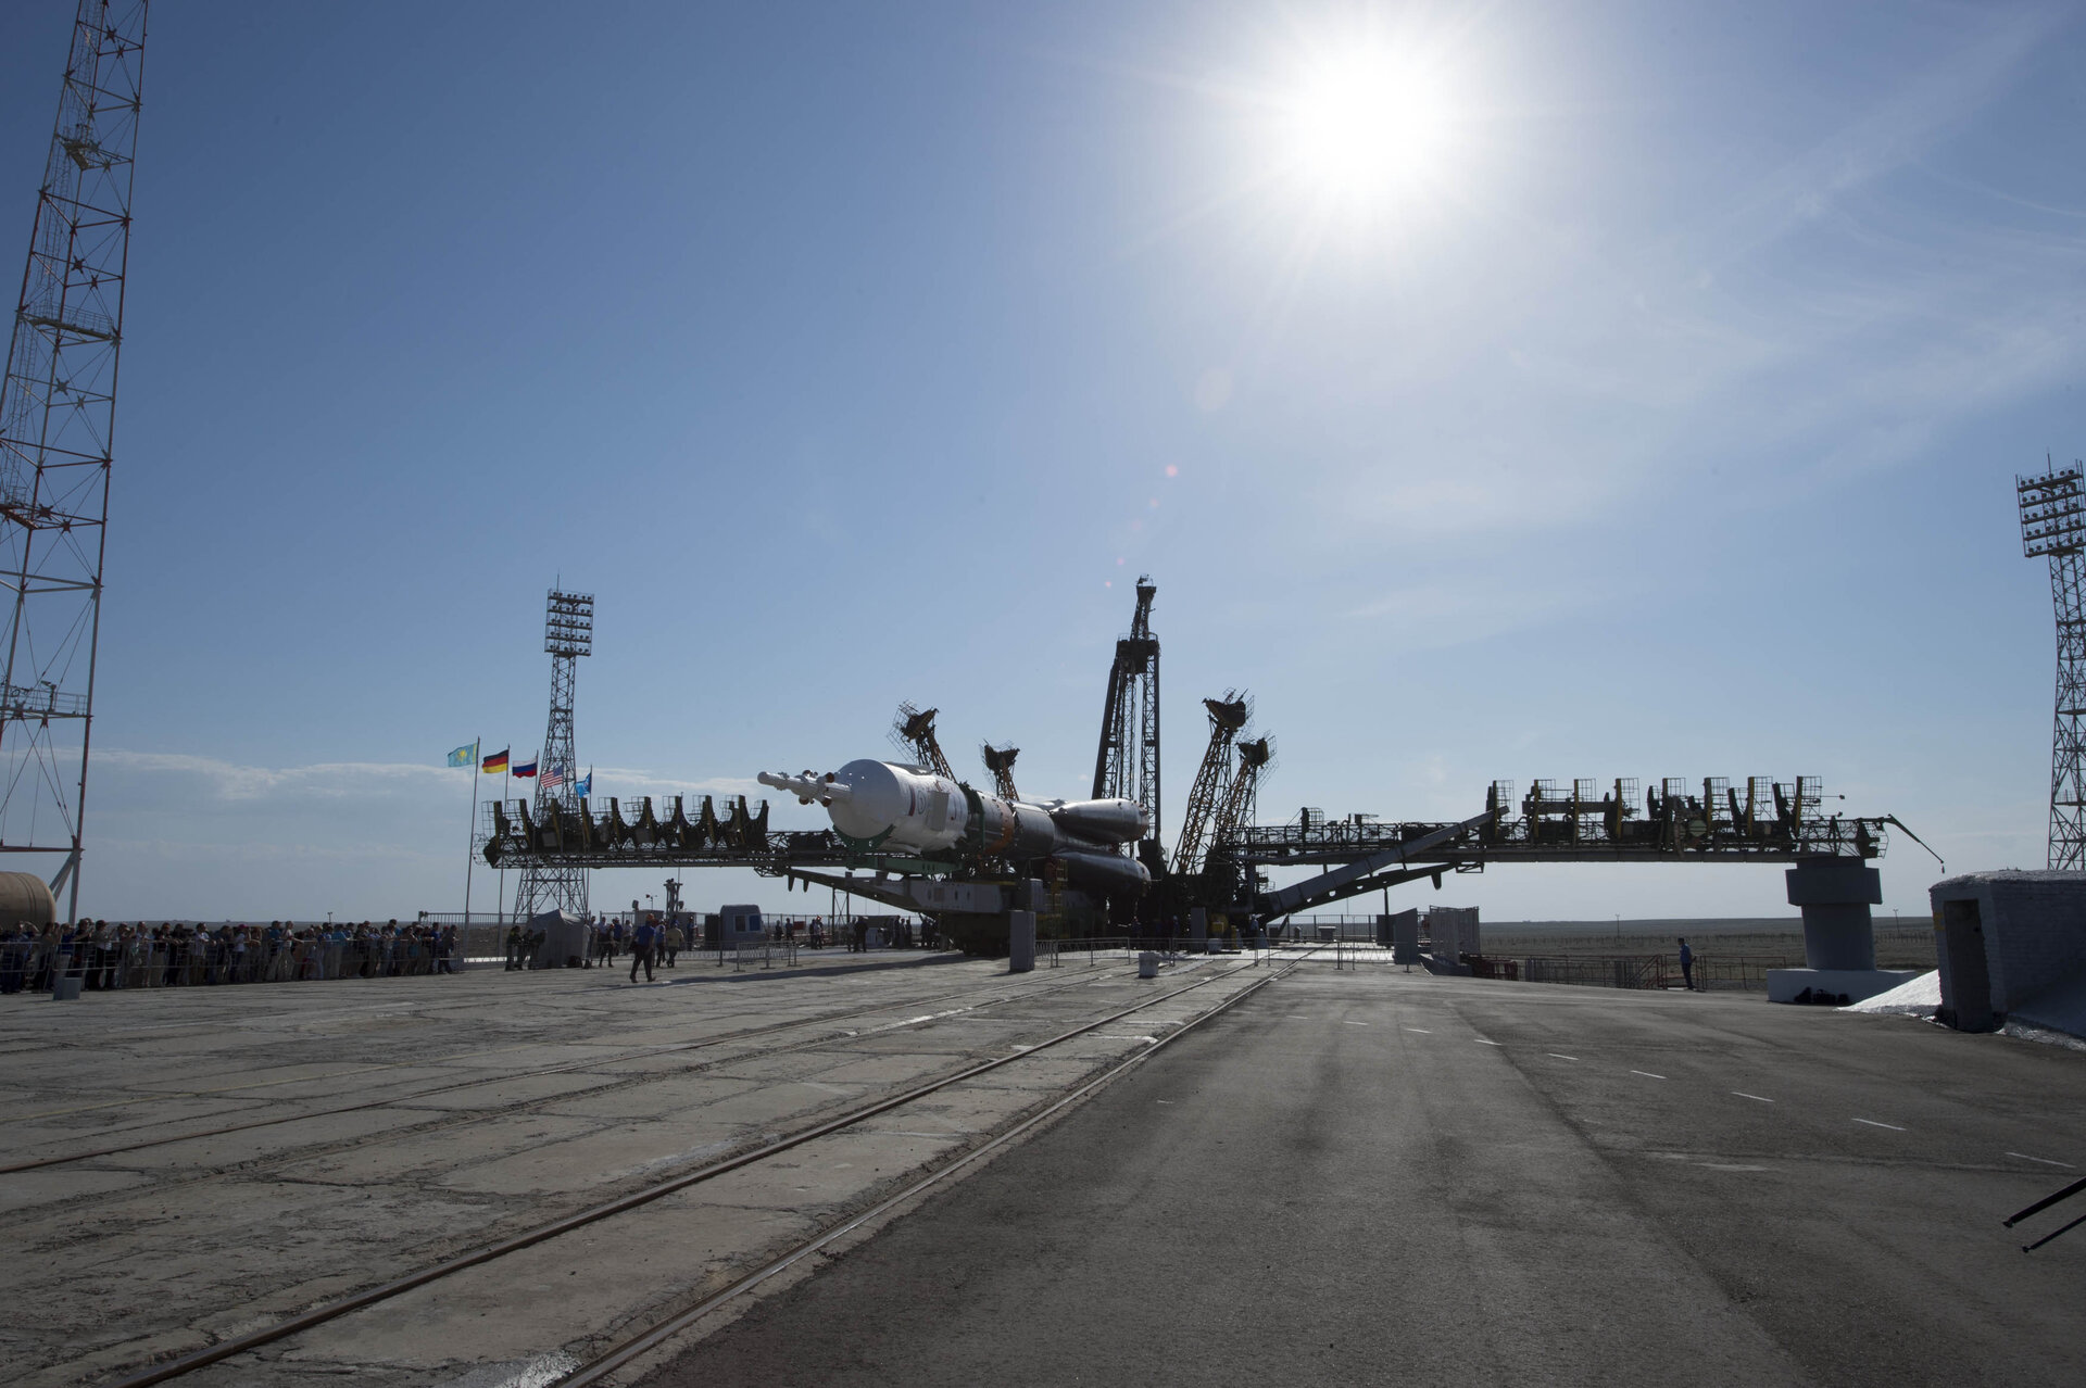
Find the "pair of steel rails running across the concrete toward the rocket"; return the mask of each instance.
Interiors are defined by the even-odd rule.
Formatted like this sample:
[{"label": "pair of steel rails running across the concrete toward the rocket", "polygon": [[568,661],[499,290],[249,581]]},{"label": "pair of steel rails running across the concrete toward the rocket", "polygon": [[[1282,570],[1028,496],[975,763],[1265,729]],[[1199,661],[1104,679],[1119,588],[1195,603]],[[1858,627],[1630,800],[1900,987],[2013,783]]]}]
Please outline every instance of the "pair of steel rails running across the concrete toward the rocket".
[{"label": "pair of steel rails running across the concrete toward the rocket", "polygon": [[[250,1330],[250,1332],[232,1336],[232,1338],[221,1340],[219,1344],[213,1344],[209,1348],[194,1350],[194,1353],[184,1355],[179,1359],[171,1359],[171,1361],[167,1361],[163,1365],[154,1365],[154,1367],[142,1369],[138,1373],[131,1373],[129,1378],[115,1380],[111,1384],[111,1388],[148,1388],[150,1384],[165,1384],[165,1382],[184,1378],[188,1373],[194,1373],[196,1369],[202,1369],[202,1367],[209,1367],[213,1363],[221,1363],[225,1359],[232,1359],[236,1355],[246,1355],[246,1353],[252,1353],[252,1350],[263,1348],[267,1344],[273,1344],[277,1340],[284,1340],[284,1338],[302,1334],[307,1330],[313,1330],[317,1325],[325,1325],[330,1321],[338,1321],[338,1319],[342,1319],[346,1315],[353,1315],[353,1313],[363,1311],[367,1307],[375,1307],[380,1303],[392,1300],[392,1298],[396,1298],[396,1296],[401,1296],[405,1292],[411,1292],[415,1288],[428,1286],[428,1284],[438,1282],[442,1278],[451,1278],[455,1273],[461,1273],[465,1269],[480,1267],[480,1265],[486,1265],[486,1263],[496,1263],[499,1259],[505,1259],[509,1255],[522,1253],[524,1248],[532,1248],[536,1244],[542,1244],[547,1240],[559,1238],[563,1234],[572,1234],[576,1230],[584,1230],[584,1228],[597,1225],[597,1223],[601,1223],[605,1219],[613,1219],[613,1217],[630,1213],[634,1209],[642,1209],[642,1207],[647,1207],[647,1205],[651,1205],[651,1203],[655,1203],[655,1200],[659,1200],[663,1196],[670,1196],[670,1194],[680,1192],[680,1190],[688,1190],[690,1186],[699,1186],[703,1182],[715,1180],[715,1178],[726,1175],[730,1171],[741,1171],[741,1169],[751,1167],[755,1163],[770,1161],[772,1157],[778,1157],[782,1152],[795,1150],[795,1148],[799,1148],[799,1146],[803,1146],[807,1142],[816,1142],[818,1138],[826,1138],[826,1136],[845,1132],[845,1130],[855,1127],[857,1123],[864,1123],[864,1121],[868,1121],[872,1117],[878,1117],[878,1115],[891,1113],[895,1109],[901,1109],[905,1105],[918,1102],[920,1098],[926,1098],[928,1094],[937,1094],[941,1090],[947,1090],[949,1086],[962,1084],[966,1080],[974,1080],[974,1077],[991,1073],[991,1071],[999,1071],[999,1069],[1010,1067],[1010,1065],[1020,1065],[1022,1061],[1028,1061],[1033,1057],[1045,1055],[1045,1052],[1049,1052],[1049,1050],[1053,1050],[1058,1046],[1064,1046],[1066,1042],[1078,1040],[1083,1036],[1099,1032],[1101,1027],[1114,1025],[1114,1023],[1122,1021],[1124,1017],[1131,1017],[1135,1013],[1147,1011],[1151,1007],[1158,1007],[1160,1002],[1168,1002],[1172,998],[1179,998],[1183,994],[1195,992],[1199,988],[1208,988],[1210,984],[1237,977],[1239,973],[1250,973],[1258,965],[1237,965],[1237,967],[1231,967],[1231,969],[1214,971],[1214,973],[1210,973],[1206,977],[1199,977],[1199,980],[1195,980],[1191,984],[1183,984],[1179,988],[1170,988],[1170,990],[1160,992],[1160,994],[1156,994],[1151,998],[1141,998],[1141,1000],[1133,1002],[1131,1007],[1112,1011],[1112,1013],[1108,1013],[1103,1017],[1097,1017],[1093,1021],[1081,1023],[1076,1027],[1068,1027],[1068,1030],[1058,1032],[1056,1036],[1049,1036],[1049,1038],[1045,1038],[1041,1042],[1022,1046],[1014,1055],[1005,1055],[1005,1057],[997,1057],[997,1059],[991,1059],[991,1061],[980,1061],[976,1065],[968,1065],[964,1069],[957,1069],[955,1073],[941,1075],[941,1077],[924,1082],[924,1084],[916,1084],[916,1086],[905,1088],[905,1090],[901,1090],[897,1094],[889,1094],[884,1098],[878,1098],[878,1100],[872,1100],[872,1102],[862,1105],[857,1109],[851,1109],[851,1111],[847,1111],[843,1115],[836,1115],[836,1117],[824,1119],[820,1123],[811,1123],[807,1127],[801,1127],[801,1130],[797,1130],[793,1134],[774,1138],[774,1140],[763,1142],[763,1144],[759,1144],[759,1146],[755,1146],[751,1150],[745,1150],[745,1152],[738,1152],[738,1155],[732,1155],[732,1157],[724,1157],[720,1161],[711,1161],[711,1163],[707,1163],[707,1165],[703,1165],[703,1167],[699,1167],[695,1171],[684,1171],[684,1173],[674,1175],[674,1178],[651,1182],[651,1184],[640,1186],[638,1190],[632,1190],[632,1192],[628,1192],[624,1196],[617,1196],[613,1200],[605,1200],[601,1205],[576,1211],[572,1215],[563,1215],[559,1219],[551,1219],[551,1221],[538,1223],[534,1228],[522,1230],[522,1232],[511,1234],[507,1238],[480,1244],[478,1248],[469,1248],[465,1253],[453,1255],[453,1257],[442,1259],[438,1263],[430,1263],[430,1265],[426,1265],[426,1267],[421,1267],[417,1271],[405,1273],[401,1278],[392,1278],[390,1282],[384,1282],[384,1284],[378,1284],[378,1286],[353,1292],[353,1294],[342,1296],[338,1300],[330,1300],[325,1305],[313,1307],[313,1309],[302,1311],[298,1315],[290,1315],[286,1319],[280,1319],[280,1321],[273,1321],[269,1325],[263,1325],[259,1330]],[[893,1196],[889,1196],[884,1200],[878,1200],[868,1211],[862,1211],[862,1213],[855,1213],[855,1215],[849,1215],[849,1217],[836,1221],[834,1225],[822,1230],[814,1238],[803,1240],[801,1244],[793,1246],[784,1255],[780,1255],[776,1259],[770,1259],[768,1263],[763,1263],[755,1271],[743,1275],[741,1280],[736,1280],[732,1286],[724,1288],[722,1292],[718,1292],[713,1296],[707,1296],[707,1298],[703,1298],[703,1300],[699,1300],[699,1303],[695,1303],[690,1307],[678,1309],[672,1315],[653,1321],[647,1330],[642,1330],[638,1334],[622,1338],[620,1342],[611,1344],[603,1353],[595,1355],[595,1359],[590,1359],[586,1365],[574,1369],[565,1380],[561,1380],[561,1384],[592,1384],[592,1382],[601,1382],[601,1378],[605,1378],[613,1369],[617,1369],[617,1367],[630,1363],[632,1359],[649,1353],[651,1348],[655,1348],[657,1344],[665,1342],[668,1338],[672,1338],[680,1330],[686,1330],[688,1325],[693,1325],[695,1321],[699,1321],[703,1315],[709,1315],[711,1311],[715,1311],[720,1305],[724,1305],[724,1303],[728,1303],[728,1300],[732,1300],[736,1296],[743,1296],[745,1292],[753,1290],[761,1282],[766,1282],[766,1280],[774,1278],[776,1273],[784,1271],[786,1267],[795,1265],[803,1257],[807,1257],[807,1255],[811,1255],[811,1253],[816,1253],[816,1250],[820,1250],[824,1246],[830,1246],[834,1240],[843,1238],[845,1234],[849,1234],[849,1232],[862,1228],[864,1223],[876,1219],[878,1215],[895,1209],[903,1200],[909,1200],[909,1198],[918,1196],[920,1192],[924,1192],[932,1184],[937,1184],[941,1180],[947,1180],[949,1175],[953,1175],[955,1171],[972,1165],[974,1161],[980,1161],[985,1155],[989,1155],[989,1152],[1005,1146],[1008,1142],[1016,1140],[1020,1134],[1033,1130],[1035,1125],[1047,1121],[1056,1113],[1062,1113],[1066,1107],[1078,1102],[1081,1098],[1085,1098],[1093,1090],[1101,1088],[1103,1084],[1108,1084],[1116,1075],[1129,1071],[1135,1065],[1139,1065],[1145,1057],[1149,1057],[1156,1050],[1164,1048],[1166,1044],[1170,1044],[1181,1034],[1185,1034],[1185,1032],[1193,1030],[1195,1025],[1208,1021],[1210,1017],[1222,1013],[1224,1009],[1233,1007],[1241,998],[1252,996],[1254,992],[1258,992],[1266,984],[1270,984],[1270,982],[1275,982],[1279,977],[1285,977],[1295,967],[1297,967],[1297,961],[1291,961],[1285,967],[1268,971],[1258,982],[1254,982],[1254,984],[1250,984],[1250,986],[1245,986],[1245,988],[1241,988],[1241,990],[1224,996],[1216,1007],[1206,1009],[1204,1013],[1191,1017],[1187,1023],[1183,1023],[1177,1030],[1168,1032],[1158,1042],[1141,1046],[1139,1050],[1135,1050],[1126,1059],[1110,1065],[1103,1073],[1085,1080],[1078,1088],[1074,1088],[1072,1092],[1056,1098],[1043,1111],[1039,1111],[1035,1115],[1028,1115],[1028,1117],[1020,1119],[1018,1123],[1014,1123],[1012,1127],[1008,1127],[1008,1130],[991,1136],[983,1144],[978,1144],[978,1146],[974,1146],[974,1148],[970,1148],[970,1150],[966,1150],[966,1152],[962,1152],[962,1155],[957,1155],[957,1157],[953,1157],[953,1159],[949,1159],[945,1163],[939,1163],[932,1171],[928,1171],[926,1175],[920,1175],[920,1178],[912,1180],[903,1190],[899,1190],[897,1194],[893,1194]]]}]

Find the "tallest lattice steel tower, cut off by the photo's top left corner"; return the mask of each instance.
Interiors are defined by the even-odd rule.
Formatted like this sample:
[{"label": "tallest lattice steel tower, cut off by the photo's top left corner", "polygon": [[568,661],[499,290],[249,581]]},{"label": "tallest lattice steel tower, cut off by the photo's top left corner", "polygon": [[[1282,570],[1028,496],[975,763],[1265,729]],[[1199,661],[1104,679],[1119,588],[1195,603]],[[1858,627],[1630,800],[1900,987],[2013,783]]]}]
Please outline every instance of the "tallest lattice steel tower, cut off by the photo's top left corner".
[{"label": "tallest lattice steel tower, cut off by the photo's top left corner", "polygon": [[0,852],[79,850],[146,0],[79,0],[0,381]]}]

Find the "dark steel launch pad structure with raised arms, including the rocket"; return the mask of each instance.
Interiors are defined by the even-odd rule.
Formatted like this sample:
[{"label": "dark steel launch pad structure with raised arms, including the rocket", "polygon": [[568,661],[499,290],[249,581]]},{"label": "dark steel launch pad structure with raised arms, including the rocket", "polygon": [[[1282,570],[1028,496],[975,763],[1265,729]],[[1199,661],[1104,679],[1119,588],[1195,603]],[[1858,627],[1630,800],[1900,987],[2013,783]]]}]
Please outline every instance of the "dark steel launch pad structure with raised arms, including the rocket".
[{"label": "dark steel launch pad structure with raised arms, including the rocket", "polygon": [[[1892,815],[1825,815],[1819,779],[1809,775],[1665,777],[1642,794],[1629,777],[1535,779],[1521,796],[1502,779],[1483,792],[1483,811],[1460,821],[1331,819],[1306,809],[1289,823],[1262,825],[1252,817],[1275,767],[1275,740],[1254,734],[1252,698],[1227,690],[1204,700],[1208,746],[1168,854],[1158,817],[1156,592],[1149,577],[1139,579],[1131,634],[1116,642],[1087,800],[1018,796],[1012,744],[983,748],[991,790],[962,782],[941,750],[937,709],[903,704],[893,725],[903,763],[761,773],[763,784],[826,807],[832,829],[770,829],[768,804],[747,796],[722,807],[711,796],[645,796],[634,809],[613,796],[607,807],[584,796],[534,807],[492,800],[480,850],[494,865],[582,873],[753,869],[920,911],[966,950],[987,955],[1005,950],[1010,913],[1030,909],[1045,938],[1191,915],[1212,934],[1237,936],[1418,879],[1439,888],[1446,873],[1494,863],[1788,865],[1813,967],[1873,969],[1865,942],[1877,896],[1865,865],[1884,854],[1890,827],[1911,832]],[[864,809],[870,800],[874,813]],[[1297,867],[1316,871],[1270,886],[1270,869]]]}]

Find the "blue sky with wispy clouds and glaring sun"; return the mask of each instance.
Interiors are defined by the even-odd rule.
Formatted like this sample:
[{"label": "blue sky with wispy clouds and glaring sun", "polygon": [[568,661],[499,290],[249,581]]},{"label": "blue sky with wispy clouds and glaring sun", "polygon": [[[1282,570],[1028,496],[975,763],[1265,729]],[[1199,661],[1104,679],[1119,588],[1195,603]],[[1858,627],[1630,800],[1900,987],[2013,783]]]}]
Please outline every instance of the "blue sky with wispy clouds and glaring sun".
[{"label": "blue sky with wispy clouds and glaring sun", "polygon": [[[71,8],[0,6],[0,254]],[[891,754],[899,700],[1085,794],[1149,573],[1168,840],[1241,688],[1262,821],[1802,773],[2042,865],[2080,6],[163,4],[144,85],[86,913],[459,909],[444,754],[542,742],[553,584],[597,796]]]}]

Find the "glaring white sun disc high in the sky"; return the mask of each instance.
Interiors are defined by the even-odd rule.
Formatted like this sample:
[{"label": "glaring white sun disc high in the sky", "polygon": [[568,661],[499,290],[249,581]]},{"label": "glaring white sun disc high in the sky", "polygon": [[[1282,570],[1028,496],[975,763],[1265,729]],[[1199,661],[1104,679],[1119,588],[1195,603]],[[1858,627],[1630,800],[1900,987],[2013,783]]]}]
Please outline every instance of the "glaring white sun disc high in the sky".
[{"label": "glaring white sun disc high in the sky", "polygon": [[1448,96],[1439,75],[1408,54],[1323,54],[1281,106],[1289,173],[1320,200],[1373,206],[1439,171]]}]

